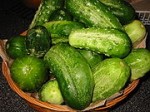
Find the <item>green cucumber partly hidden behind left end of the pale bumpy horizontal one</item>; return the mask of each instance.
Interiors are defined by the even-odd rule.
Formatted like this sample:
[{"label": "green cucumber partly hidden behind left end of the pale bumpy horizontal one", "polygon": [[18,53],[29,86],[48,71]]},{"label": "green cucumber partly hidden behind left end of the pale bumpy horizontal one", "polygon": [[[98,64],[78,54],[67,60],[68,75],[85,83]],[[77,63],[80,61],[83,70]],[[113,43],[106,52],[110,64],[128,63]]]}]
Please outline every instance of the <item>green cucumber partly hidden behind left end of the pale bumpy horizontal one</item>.
[{"label": "green cucumber partly hidden behind left end of the pale bumpy horizontal one", "polygon": [[53,44],[68,41],[68,36],[72,30],[84,28],[82,23],[66,20],[49,21],[43,26],[45,26],[48,32],[51,34]]}]

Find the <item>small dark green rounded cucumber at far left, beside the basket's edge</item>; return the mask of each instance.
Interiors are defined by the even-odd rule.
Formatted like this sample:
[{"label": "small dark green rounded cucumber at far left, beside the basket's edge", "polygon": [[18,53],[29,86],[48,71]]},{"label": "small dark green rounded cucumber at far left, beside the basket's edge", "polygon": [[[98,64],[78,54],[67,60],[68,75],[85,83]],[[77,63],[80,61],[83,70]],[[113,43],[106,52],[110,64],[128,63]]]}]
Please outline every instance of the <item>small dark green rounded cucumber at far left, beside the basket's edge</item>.
[{"label": "small dark green rounded cucumber at far left, beside the basket's edge", "polygon": [[25,37],[20,35],[11,37],[6,43],[6,52],[13,59],[27,55]]}]

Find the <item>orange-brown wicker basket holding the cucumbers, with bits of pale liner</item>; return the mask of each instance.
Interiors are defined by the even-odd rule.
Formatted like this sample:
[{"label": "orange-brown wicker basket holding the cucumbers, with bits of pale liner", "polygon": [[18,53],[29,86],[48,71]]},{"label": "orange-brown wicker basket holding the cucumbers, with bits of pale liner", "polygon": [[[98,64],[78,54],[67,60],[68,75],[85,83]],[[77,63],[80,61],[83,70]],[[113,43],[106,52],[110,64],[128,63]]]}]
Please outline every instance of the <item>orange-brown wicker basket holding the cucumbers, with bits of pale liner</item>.
[{"label": "orange-brown wicker basket holding the cucumbers, with bits of pale liner", "polygon": [[[23,33],[25,35],[26,32]],[[5,51],[5,43],[7,40],[0,40],[0,56],[3,59],[2,62],[2,72],[4,77],[6,78],[9,86],[11,89],[16,92],[20,97],[22,97],[32,108],[39,112],[76,112],[77,110],[74,110],[67,105],[56,105],[56,104],[50,104],[46,102],[42,102],[38,100],[37,98],[33,97],[33,94],[31,93],[25,93],[23,92],[17,85],[13,82],[11,79],[11,74],[9,70],[9,64],[11,63],[11,59],[7,56],[6,51]],[[140,48],[145,48],[145,42],[146,38],[138,44],[136,47]],[[99,101],[96,104],[90,105],[88,108],[86,108],[83,111],[104,111],[107,110],[123,99],[125,99],[139,84],[139,79],[131,82],[130,84],[127,85],[127,87],[119,92],[119,94],[113,95],[111,98],[108,98],[107,100],[104,101]]]}]

